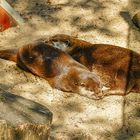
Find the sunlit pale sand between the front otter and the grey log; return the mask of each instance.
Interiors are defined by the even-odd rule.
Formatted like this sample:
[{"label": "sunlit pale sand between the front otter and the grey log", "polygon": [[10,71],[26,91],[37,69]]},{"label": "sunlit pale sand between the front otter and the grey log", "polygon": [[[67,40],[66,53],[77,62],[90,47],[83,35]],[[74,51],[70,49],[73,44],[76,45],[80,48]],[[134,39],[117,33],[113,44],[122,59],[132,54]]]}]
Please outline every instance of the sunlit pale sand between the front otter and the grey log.
[{"label": "sunlit pale sand between the front otter and the grey log", "polygon": [[[1,60],[1,63],[1,73],[5,75],[0,78],[1,83],[5,83],[1,85],[3,89],[41,103],[53,112],[52,139],[58,136],[79,139],[92,139],[93,135],[102,139],[119,137],[118,128],[124,121],[123,97],[91,100],[75,93],[65,93],[52,89],[47,81],[23,72],[12,62]],[[12,78],[6,81],[6,76]],[[138,109],[135,114],[138,117]]]}]

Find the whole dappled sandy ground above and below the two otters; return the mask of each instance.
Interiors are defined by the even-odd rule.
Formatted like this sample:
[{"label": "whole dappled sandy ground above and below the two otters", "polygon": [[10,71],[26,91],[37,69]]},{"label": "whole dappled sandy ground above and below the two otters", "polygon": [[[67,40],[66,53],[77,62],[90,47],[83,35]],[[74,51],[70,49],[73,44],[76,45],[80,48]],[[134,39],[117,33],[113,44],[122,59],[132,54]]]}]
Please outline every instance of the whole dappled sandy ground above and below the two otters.
[{"label": "whole dappled sandy ground above and below the two otters", "polygon": [[[0,48],[17,48],[57,33],[140,52],[131,17],[139,0],[9,0],[26,20],[0,33]],[[0,60],[0,87],[39,102],[54,114],[50,140],[139,140],[140,95],[90,100],[52,89],[47,81]]]}]

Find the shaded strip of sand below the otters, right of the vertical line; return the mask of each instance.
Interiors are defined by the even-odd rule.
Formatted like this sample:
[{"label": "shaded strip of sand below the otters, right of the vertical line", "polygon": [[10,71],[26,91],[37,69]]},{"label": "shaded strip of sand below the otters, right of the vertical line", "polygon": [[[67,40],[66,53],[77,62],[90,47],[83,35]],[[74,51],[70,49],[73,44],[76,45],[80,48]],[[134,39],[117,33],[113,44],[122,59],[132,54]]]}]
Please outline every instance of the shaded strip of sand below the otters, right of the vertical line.
[{"label": "shaded strip of sand below the otters, right of the vertical line", "polygon": [[124,106],[124,126],[116,131],[116,139],[139,139],[140,137],[140,96],[139,94],[129,94],[125,98]]}]

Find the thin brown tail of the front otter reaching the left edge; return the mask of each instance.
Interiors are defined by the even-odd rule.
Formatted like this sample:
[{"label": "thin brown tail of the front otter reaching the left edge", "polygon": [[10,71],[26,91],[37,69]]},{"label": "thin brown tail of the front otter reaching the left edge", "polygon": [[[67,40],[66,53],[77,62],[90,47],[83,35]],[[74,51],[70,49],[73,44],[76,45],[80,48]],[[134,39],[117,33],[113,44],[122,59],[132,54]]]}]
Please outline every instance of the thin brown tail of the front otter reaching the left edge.
[{"label": "thin brown tail of the front otter reaching the left edge", "polygon": [[0,58],[17,62],[17,49],[0,50]]}]

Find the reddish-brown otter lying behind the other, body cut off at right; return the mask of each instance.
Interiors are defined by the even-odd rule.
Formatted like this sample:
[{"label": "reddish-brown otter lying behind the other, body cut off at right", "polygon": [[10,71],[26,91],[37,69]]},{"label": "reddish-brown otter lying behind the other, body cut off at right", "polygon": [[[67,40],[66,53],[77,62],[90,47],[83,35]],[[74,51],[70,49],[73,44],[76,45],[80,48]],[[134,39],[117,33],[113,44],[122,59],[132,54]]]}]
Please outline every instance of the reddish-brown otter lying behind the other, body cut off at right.
[{"label": "reddish-brown otter lying behind the other, body cut off at right", "polygon": [[49,42],[96,73],[105,95],[140,92],[140,55],[136,52],[114,45],[92,44],[64,34],[50,37]]}]

